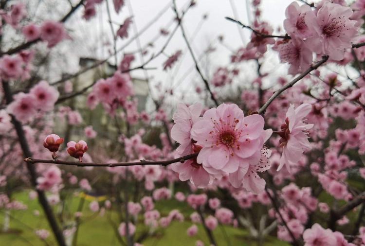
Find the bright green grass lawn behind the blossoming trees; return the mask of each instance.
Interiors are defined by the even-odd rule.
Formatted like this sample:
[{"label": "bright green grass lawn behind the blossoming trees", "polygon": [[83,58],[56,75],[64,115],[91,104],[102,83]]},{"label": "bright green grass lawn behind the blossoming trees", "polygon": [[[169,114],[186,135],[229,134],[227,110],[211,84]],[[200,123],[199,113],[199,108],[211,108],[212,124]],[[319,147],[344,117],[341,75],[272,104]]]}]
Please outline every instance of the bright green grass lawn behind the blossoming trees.
[{"label": "bright green grass lawn behind the blossoming trees", "polygon": [[[10,228],[13,233],[0,233],[0,245],[4,246],[43,246],[47,245],[41,241],[34,233],[33,229],[45,228],[49,229],[48,223],[42,213],[37,200],[30,200],[28,193],[17,193],[14,197],[27,204],[28,210],[26,211],[11,211],[12,218],[10,219]],[[77,211],[79,205],[79,197],[68,197],[67,204],[69,204],[70,221],[65,221],[64,224],[70,224],[72,222],[72,214]],[[89,208],[89,201],[86,201],[83,207],[83,223],[79,227],[78,232],[78,246],[118,246],[120,245],[113,227],[110,224],[111,218],[115,224],[118,224],[118,215],[115,211],[106,212],[104,216],[93,214]],[[189,220],[189,215],[193,211],[185,203],[180,203],[176,200],[167,200],[156,203],[156,209],[161,212],[161,216],[166,216],[172,209],[179,209],[185,216],[184,222],[174,221],[168,228],[158,229],[154,236],[148,237],[143,241],[145,246],[194,246],[197,240],[201,240],[208,244],[208,239],[205,235],[204,229],[201,225],[198,225],[198,235],[194,237],[188,237],[186,229],[189,228],[192,223]],[[33,214],[33,211],[38,210],[39,216]],[[57,214],[57,209],[55,209]],[[67,214],[66,214],[67,215]],[[0,224],[3,222],[4,213],[0,212]],[[65,217],[65,216],[64,216]],[[67,217],[67,216],[66,216]],[[142,217],[139,218],[142,220]],[[2,225],[1,225],[2,226]],[[33,228],[33,229],[32,229]],[[136,238],[139,237],[147,228],[143,225],[143,221],[137,224]],[[232,246],[256,246],[256,242],[252,241],[247,231],[242,228],[224,227],[224,231],[227,233],[228,240]],[[229,245],[227,243],[227,237],[224,236],[224,231],[221,227],[217,227],[214,232],[214,237],[219,246]],[[51,234],[47,238],[48,245],[56,245],[55,239]],[[268,237],[265,242],[265,246],[285,246],[284,242],[278,241],[274,237]]]}]

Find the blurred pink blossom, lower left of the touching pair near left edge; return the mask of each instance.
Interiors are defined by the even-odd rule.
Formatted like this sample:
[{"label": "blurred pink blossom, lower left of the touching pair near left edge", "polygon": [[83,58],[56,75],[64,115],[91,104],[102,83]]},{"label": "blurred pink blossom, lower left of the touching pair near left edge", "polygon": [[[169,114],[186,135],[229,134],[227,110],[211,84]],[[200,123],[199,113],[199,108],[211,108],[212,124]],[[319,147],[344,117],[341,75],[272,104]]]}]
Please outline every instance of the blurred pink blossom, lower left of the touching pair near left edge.
[{"label": "blurred pink blossom, lower left of the touching pair near left edge", "polygon": [[20,92],[14,96],[14,101],[7,106],[6,110],[18,121],[25,123],[37,113],[35,101],[33,95]]}]

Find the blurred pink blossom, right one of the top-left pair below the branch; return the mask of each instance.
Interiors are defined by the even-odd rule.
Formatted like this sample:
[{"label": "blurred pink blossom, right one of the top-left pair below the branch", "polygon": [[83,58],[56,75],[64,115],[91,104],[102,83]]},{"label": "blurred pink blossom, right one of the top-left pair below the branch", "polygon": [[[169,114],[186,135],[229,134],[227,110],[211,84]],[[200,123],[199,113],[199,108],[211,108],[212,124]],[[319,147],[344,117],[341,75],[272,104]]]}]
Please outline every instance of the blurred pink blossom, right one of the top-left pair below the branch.
[{"label": "blurred pink blossom, right one of the top-left pair below the branch", "polygon": [[48,48],[54,47],[66,37],[67,34],[61,22],[46,20],[40,27],[40,38],[48,42]]}]

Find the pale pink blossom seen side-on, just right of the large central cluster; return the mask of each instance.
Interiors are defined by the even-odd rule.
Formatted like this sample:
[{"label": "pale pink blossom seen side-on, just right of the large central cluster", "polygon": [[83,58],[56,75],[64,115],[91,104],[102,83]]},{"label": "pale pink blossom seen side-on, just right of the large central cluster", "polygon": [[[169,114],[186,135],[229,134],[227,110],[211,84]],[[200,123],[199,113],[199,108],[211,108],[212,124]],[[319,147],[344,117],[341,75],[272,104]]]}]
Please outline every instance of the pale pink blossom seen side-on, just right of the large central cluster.
[{"label": "pale pink blossom seen side-on, just right of the large central cluster", "polygon": [[285,124],[281,125],[280,147],[283,147],[283,153],[277,171],[285,164],[290,172],[290,166],[299,161],[303,151],[310,150],[307,131],[313,127],[313,124],[304,123],[304,117],[309,114],[311,109],[310,104],[302,104],[296,109],[294,109],[294,105],[289,107]]}]

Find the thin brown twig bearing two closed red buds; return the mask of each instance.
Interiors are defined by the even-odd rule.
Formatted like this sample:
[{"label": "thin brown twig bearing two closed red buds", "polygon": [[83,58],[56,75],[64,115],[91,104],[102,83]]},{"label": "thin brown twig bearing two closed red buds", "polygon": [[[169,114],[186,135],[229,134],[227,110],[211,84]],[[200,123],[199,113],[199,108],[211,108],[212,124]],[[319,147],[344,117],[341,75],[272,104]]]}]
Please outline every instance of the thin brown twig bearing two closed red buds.
[{"label": "thin brown twig bearing two closed red buds", "polygon": [[139,166],[139,165],[161,165],[167,166],[172,163],[176,162],[184,162],[185,160],[195,158],[198,156],[198,153],[186,155],[183,157],[171,159],[171,160],[141,160],[141,161],[133,161],[133,162],[112,162],[112,163],[105,163],[105,162],[78,162],[78,161],[66,161],[66,160],[59,160],[59,159],[36,159],[36,158],[25,158],[24,161],[27,163],[50,163],[50,164],[60,164],[60,165],[68,165],[68,166],[78,166],[78,167],[128,167],[128,166]]}]

